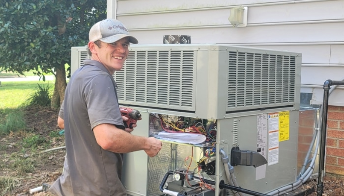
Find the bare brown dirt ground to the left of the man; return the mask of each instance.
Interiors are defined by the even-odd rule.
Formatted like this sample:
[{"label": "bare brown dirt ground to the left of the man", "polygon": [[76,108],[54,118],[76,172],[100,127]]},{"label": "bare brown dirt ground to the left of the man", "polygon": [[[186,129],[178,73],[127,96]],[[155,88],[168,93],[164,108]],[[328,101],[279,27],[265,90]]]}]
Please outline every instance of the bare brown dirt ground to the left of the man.
[{"label": "bare brown dirt ground to the left of the man", "polygon": [[0,158],[5,164],[11,164],[11,159],[8,157],[13,153],[18,153],[21,156],[28,157],[34,165],[34,170],[30,173],[17,172],[15,170],[9,171],[8,169],[0,170],[0,176],[11,176],[18,180],[16,188],[8,196],[53,196],[53,194],[45,192],[30,194],[29,190],[42,186],[42,183],[51,184],[63,170],[65,156],[64,148],[42,152],[46,149],[65,146],[62,133],[59,137],[51,137],[52,131],[57,133],[61,131],[61,129],[57,127],[57,116],[57,110],[47,107],[34,107],[26,111],[25,120],[28,130],[50,140],[50,146],[38,147],[35,152],[25,151],[19,147],[20,145],[18,144],[22,142],[25,134],[23,132],[14,132],[7,136],[0,137],[0,143],[5,143],[8,146],[5,150],[1,150],[0,154]]}]

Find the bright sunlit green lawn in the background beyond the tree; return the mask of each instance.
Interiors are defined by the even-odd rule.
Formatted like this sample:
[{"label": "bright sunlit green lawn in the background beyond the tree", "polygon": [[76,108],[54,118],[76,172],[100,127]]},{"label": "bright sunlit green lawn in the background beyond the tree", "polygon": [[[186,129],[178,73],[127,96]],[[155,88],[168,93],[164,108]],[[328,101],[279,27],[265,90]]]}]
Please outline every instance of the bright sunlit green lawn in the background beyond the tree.
[{"label": "bright sunlit green lawn in the background beyond the tree", "polygon": [[54,86],[54,83],[55,81],[1,82],[0,109],[18,108],[36,91],[37,84]]}]

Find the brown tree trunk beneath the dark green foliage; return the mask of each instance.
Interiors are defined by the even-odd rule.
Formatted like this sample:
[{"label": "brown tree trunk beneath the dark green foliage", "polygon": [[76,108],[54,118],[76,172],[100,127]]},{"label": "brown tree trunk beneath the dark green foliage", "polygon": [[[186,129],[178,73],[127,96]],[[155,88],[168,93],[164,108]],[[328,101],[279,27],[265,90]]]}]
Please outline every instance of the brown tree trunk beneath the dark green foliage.
[{"label": "brown tree trunk beneath the dark green foliage", "polygon": [[66,82],[66,70],[64,68],[64,63],[55,67],[56,70],[56,81],[55,81],[55,88],[54,94],[51,102],[51,108],[58,108],[63,99],[64,99],[64,91],[66,90],[67,82]]}]

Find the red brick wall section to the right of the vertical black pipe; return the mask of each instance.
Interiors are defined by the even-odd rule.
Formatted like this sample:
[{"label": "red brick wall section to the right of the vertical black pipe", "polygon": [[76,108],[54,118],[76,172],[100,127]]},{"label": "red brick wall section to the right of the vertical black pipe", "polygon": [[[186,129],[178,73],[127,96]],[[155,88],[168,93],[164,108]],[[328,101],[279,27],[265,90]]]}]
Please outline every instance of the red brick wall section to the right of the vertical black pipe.
[{"label": "red brick wall section to the right of the vertical black pipe", "polygon": [[325,172],[344,175],[344,107],[329,106]]}]

